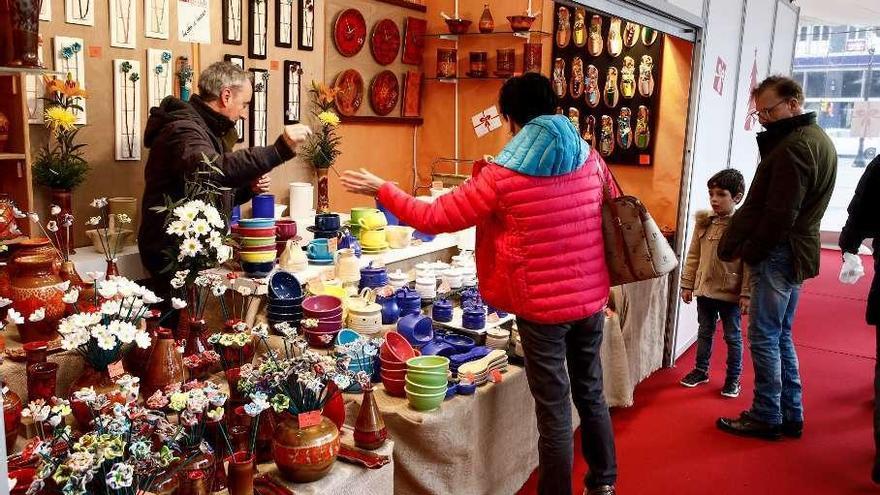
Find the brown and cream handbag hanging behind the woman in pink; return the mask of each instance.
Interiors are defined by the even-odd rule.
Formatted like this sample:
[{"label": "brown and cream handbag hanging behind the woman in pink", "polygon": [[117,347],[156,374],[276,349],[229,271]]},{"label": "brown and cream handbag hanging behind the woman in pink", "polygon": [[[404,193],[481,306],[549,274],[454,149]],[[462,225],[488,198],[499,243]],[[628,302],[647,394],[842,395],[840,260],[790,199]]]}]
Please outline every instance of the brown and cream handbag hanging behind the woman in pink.
[{"label": "brown and cream handbag hanging behind the woman in pink", "polygon": [[605,263],[611,286],[658,278],[675,270],[678,258],[648,209],[635,196],[611,194],[602,168],[608,171],[617,191],[620,184],[605,164],[599,167],[602,180],[602,235]]}]

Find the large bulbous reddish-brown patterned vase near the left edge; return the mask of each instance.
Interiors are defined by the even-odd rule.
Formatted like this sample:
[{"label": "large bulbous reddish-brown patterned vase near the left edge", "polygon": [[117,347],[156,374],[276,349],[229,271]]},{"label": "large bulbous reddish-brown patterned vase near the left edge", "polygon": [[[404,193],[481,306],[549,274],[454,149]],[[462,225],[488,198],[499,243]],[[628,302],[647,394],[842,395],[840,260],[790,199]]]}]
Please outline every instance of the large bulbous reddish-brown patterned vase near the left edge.
[{"label": "large bulbous reddish-brown patterned vase near the left edge", "polygon": [[[23,256],[15,261],[15,276],[11,279],[14,307],[25,318],[18,325],[21,342],[53,340],[58,336],[58,320],[64,316],[66,305],[58,289],[61,277],[53,271],[54,260],[48,256]],[[41,321],[32,322],[28,316],[43,308],[46,315]]]}]

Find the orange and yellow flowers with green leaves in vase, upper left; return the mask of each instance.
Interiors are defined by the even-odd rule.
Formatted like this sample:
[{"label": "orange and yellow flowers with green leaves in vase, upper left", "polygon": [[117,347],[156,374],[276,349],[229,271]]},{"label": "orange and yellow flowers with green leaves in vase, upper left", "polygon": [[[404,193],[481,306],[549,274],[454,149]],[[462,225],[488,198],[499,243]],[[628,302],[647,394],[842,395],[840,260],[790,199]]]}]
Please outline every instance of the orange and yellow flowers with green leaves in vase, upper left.
[{"label": "orange and yellow flowers with green leaves in vase, upper left", "polygon": [[[50,139],[37,153],[33,164],[34,182],[49,188],[52,204],[61,208],[61,215],[71,214],[72,193],[83,183],[89,172],[89,163],[83,155],[86,144],[77,143],[81,126],[77,125],[77,112],[82,111],[81,101],[86,92],[79,87],[70,74],[66,80],[43,76],[47,96],[43,122],[49,129]],[[72,232],[66,229],[60,236],[61,250],[73,253],[69,248]]]}]

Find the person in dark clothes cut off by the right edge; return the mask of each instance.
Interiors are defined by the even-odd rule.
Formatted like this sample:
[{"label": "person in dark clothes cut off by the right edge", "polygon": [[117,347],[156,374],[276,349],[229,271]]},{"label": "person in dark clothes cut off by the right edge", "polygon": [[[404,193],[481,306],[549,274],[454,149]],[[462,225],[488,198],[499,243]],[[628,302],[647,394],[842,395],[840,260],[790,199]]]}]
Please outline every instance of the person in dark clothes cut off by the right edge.
[{"label": "person in dark clothes cut off by the right edge", "polygon": [[877,327],[877,361],[874,363],[874,470],[871,478],[880,484],[880,156],[874,158],[856,187],[847,208],[849,217],[840,232],[840,250],[858,254],[862,241],[874,239],[874,281],[868,291],[868,325]]}]

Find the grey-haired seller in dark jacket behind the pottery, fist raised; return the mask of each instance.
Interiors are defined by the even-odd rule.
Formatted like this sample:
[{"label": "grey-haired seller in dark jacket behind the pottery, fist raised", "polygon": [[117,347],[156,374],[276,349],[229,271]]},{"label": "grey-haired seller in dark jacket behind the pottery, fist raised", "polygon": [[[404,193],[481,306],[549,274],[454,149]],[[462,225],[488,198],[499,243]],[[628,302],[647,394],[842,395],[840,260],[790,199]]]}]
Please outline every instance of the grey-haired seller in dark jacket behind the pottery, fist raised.
[{"label": "grey-haired seller in dark jacket behind the pottery, fist raised", "polygon": [[189,102],[169,96],[150,109],[144,132],[150,156],[144,169],[138,248],[144,267],[155,279],[170,278],[161,273],[169,262],[162,251],[172,240],[165,232],[165,214],[151,208],[164,206],[166,195],[174,201],[183,197],[186,176],[199,168],[203,155],[215,160],[214,167],[223,172],[215,178],[218,185],[233,188],[235,204],[242,204],[255,192],[268,190],[265,174],[293,158],[296,146],[311,134],[305,125],[291,125],[270,146],[232,151],[238,138],[235,122],[247,118],[252,96],[247,71],[217,62],[200,74],[199,94]]}]

